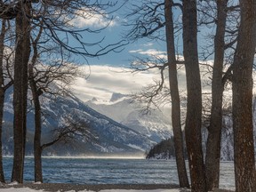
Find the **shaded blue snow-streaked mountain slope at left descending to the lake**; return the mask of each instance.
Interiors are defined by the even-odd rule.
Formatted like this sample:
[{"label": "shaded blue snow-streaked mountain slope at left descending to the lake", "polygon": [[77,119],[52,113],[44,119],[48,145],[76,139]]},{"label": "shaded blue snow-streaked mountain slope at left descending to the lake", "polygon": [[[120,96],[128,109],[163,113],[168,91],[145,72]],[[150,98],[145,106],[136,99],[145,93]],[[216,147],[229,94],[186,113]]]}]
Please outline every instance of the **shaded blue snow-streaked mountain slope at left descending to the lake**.
[{"label": "shaded blue snow-streaked mountain slope at left descending to the lake", "polygon": [[[4,154],[12,154],[12,89],[6,92],[4,108]],[[95,135],[94,140],[79,139],[71,145],[59,144],[44,151],[46,155],[84,155],[99,154],[126,154],[141,155],[145,150],[156,144],[147,135],[141,134],[123,124],[117,123],[108,116],[102,115],[96,110],[84,104],[74,95],[58,97],[52,100],[46,95],[42,98],[42,107],[45,115],[43,127],[43,142],[51,140],[52,130],[65,122],[68,115],[76,116],[89,122],[90,131]],[[31,108],[30,108],[31,109]],[[28,154],[32,153],[34,132],[33,110],[28,112]]]}]

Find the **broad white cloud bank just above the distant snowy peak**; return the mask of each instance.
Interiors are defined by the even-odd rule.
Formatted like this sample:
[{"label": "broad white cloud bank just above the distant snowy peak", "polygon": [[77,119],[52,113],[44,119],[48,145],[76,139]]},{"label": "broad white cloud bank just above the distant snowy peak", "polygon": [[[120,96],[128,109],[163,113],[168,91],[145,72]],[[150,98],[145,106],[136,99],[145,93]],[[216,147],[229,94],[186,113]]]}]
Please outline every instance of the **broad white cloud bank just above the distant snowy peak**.
[{"label": "broad white cloud bank just above the distant snowy peak", "polygon": [[[113,92],[131,94],[139,92],[143,86],[158,79],[159,71],[144,71],[132,73],[127,68],[114,68],[108,66],[91,66],[91,75],[88,79],[76,78],[72,85],[76,96],[81,100],[110,100]],[[89,68],[83,67],[89,71]]]}]

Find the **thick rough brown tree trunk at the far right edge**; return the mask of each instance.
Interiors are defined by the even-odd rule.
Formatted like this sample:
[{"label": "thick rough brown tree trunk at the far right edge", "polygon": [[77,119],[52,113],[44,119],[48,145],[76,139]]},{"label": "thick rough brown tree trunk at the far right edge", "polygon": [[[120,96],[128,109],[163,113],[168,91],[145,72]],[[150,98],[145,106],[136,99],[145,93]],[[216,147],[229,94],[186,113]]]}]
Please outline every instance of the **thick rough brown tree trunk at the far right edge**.
[{"label": "thick rough brown tree trunk at the far right edge", "polygon": [[241,24],[233,68],[233,128],[237,192],[256,191],[252,125],[252,65],[256,46],[256,2],[240,0]]}]

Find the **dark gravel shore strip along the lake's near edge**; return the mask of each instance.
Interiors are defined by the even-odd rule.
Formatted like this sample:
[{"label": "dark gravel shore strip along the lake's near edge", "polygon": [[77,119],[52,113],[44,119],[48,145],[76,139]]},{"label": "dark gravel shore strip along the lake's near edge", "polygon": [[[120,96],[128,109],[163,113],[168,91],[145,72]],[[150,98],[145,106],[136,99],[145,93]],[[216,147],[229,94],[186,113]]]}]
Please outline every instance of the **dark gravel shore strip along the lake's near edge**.
[{"label": "dark gravel shore strip along the lake's near edge", "polygon": [[[99,192],[100,190],[106,189],[134,189],[134,190],[154,190],[154,189],[173,189],[179,188],[175,184],[69,184],[69,183],[23,183],[23,184],[1,184],[1,188],[31,188],[35,190],[44,190],[48,192],[65,192],[65,191],[95,191]],[[180,188],[180,192],[188,192],[189,189]],[[214,192],[233,192],[232,190],[227,189],[216,189]]]}]

